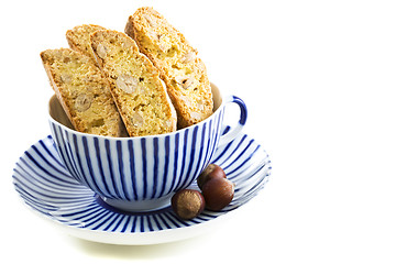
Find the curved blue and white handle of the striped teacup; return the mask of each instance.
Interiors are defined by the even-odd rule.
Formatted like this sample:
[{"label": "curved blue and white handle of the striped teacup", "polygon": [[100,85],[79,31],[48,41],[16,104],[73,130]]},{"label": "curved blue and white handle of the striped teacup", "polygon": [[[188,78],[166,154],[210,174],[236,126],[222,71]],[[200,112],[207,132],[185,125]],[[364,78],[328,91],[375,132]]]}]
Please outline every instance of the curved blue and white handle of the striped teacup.
[{"label": "curved blue and white handle of the striped teacup", "polygon": [[234,128],[231,128],[226,134],[220,136],[218,146],[222,146],[224,144],[228,144],[230,141],[237,138],[237,135],[242,131],[243,127],[246,123],[248,119],[248,108],[244,101],[235,96],[229,96],[224,98],[224,106],[227,103],[234,102],[240,107],[240,120],[238,124]]}]

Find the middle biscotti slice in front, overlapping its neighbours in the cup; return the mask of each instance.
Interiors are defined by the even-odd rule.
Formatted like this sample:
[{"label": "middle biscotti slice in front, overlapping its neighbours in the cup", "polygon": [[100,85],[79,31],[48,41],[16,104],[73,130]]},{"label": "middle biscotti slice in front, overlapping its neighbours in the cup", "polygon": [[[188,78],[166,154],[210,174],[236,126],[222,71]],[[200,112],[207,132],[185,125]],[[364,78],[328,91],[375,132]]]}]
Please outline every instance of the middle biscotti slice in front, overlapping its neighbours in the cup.
[{"label": "middle biscotti slice in front, overlapping its neighbours in the cup", "polygon": [[91,45],[131,136],[176,130],[176,111],[158,70],[135,42],[117,31],[97,31]]}]

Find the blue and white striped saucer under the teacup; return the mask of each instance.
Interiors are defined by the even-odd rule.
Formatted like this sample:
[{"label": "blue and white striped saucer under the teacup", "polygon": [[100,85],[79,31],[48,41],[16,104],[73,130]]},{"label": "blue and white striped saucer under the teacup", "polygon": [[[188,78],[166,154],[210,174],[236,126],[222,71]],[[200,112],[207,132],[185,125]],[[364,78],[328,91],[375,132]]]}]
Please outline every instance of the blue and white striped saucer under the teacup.
[{"label": "blue and white striped saucer under the teacup", "polygon": [[[193,220],[178,219],[170,207],[125,212],[108,206],[70,176],[51,135],[20,157],[13,184],[29,208],[72,235],[112,244],[157,244],[191,238],[212,228],[253,198],[272,169],[267,153],[246,134],[219,147],[211,163],[221,166],[235,184],[234,198],[223,210],[205,210]],[[197,188],[195,183],[191,188]]]}]

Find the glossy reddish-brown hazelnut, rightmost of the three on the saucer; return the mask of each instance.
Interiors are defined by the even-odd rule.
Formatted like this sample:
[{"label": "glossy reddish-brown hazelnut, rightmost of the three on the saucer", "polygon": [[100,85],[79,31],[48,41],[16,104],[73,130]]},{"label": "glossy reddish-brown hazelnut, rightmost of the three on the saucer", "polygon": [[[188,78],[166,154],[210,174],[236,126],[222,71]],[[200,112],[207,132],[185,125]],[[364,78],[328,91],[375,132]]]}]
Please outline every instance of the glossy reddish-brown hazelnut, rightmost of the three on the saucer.
[{"label": "glossy reddish-brown hazelnut, rightmost of the three on the saucer", "polygon": [[227,178],[212,178],[202,187],[206,208],[219,211],[228,206],[234,195],[234,184]]}]

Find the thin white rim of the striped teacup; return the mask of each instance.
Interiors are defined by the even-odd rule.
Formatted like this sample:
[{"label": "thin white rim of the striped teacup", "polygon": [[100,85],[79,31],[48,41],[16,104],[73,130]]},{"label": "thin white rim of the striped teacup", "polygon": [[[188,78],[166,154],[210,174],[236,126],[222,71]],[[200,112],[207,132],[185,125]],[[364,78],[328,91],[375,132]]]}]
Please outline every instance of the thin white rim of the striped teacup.
[{"label": "thin white rim of the striped teacup", "polygon": [[48,100],[48,106],[47,106],[47,117],[48,117],[48,120],[50,122],[52,123],[55,123],[57,124],[58,127],[61,127],[62,129],[66,130],[67,132],[70,132],[70,133],[74,133],[74,134],[77,134],[77,135],[84,135],[84,136],[88,136],[88,138],[99,138],[99,139],[107,139],[107,140],[119,140],[119,141],[129,141],[129,140],[141,140],[141,139],[153,139],[153,138],[165,138],[165,136],[168,136],[168,135],[173,135],[173,134],[177,134],[177,133],[182,133],[183,131],[187,130],[187,129],[191,129],[191,128],[195,128],[204,122],[208,122],[210,121],[211,119],[215,119],[215,116],[217,112],[220,111],[220,109],[224,106],[224,97],[221,95],[221,91],[220,89],[212,82],[210,82],[210,86],[211,88],[216,89],[217,90],[217,94],[219,96],[219,99],[220,99],[220,105],[219,107],[213,111],[213,113],[208,117],[207,119],[198,122],[198,123],[195,123],[190,127],[187,127],[187,128],[184,128],[184,129],[178,129],[174,132],[168,132],[168,133],[164,133],[164,134],[153,134],[153,135],[138,135],[138,136],[124,136],[124,138],[120,138],[120,136],[110,136],[110,135],[98,135],[98,134],[89,134],[89,133],[84,133],[84,132],[79,132],[77,130],[74,130],[74,129],[70,129],[70,128],[67,128],[65,124],[61,123],[59,121],[55,120],[51,113],[50,113],[50,110],[51,110],[51,101],[54,97],[56,97],[56,95],[52,95],[50,100]]}]

